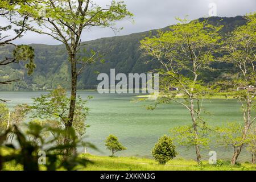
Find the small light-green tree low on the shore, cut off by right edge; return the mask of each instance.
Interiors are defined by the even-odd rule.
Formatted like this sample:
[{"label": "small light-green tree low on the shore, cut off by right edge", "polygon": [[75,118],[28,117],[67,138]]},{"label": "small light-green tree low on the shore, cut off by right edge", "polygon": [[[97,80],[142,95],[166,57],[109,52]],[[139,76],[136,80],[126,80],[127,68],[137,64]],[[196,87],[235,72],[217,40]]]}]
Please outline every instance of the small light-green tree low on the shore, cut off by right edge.
[{"label": "small light-green tree low on the shore, cut off by right edge", "polygon": [[256,126],[251,126],[251,129],[247,135],[246,139],[247,151],[251,153],[251,163],[255,164],[256,160]]}]

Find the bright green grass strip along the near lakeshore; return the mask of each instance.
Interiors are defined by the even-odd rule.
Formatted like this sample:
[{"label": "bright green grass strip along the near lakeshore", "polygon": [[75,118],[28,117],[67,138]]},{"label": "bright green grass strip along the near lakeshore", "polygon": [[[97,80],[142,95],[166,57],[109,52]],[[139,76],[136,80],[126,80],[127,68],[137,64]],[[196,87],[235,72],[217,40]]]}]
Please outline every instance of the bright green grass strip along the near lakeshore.
[{"label": "bright green grass strip along the near lakeshore", "polygon": [[[89,159],[92,163],[86,168],[78,167],[81,171],[256,171],[256,165],[242,163],[230,166],[229,162],[224,162],[222,166],[214,166],[204,161],[201,166],[192,160],[174,159],[166,165],[160,165],[152,159],[135,157],[109,157],[81,155],[82,158]],[[15,163],[7,163],[5,170],[22,170],[22,166]]]}]

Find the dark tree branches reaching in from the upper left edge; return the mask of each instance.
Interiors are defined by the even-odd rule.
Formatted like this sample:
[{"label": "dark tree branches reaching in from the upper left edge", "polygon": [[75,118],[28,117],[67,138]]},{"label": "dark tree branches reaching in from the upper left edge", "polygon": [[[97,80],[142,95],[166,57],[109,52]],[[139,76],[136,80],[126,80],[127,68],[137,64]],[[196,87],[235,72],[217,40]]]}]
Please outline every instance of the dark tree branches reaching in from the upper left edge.
[{"label": "dark tree branches reaching in from the upper left edge", "polygon": [[[5,16],[9,19],[9,22],[13,22],[15,19],[13,15],[13,8],[17,3],[21,1],[1,1],[0,2],[0,16]],[[21,9],[22,10],[22,9]],[[16,22],[16,27],[12,27],[11,25],[7,25],[4,27],[0,26],[0,46],[14,46],[13,55],[6,55],[0,59],[0,66],[6,66],[12,63],[19,63],[19,61],[28,61],[25,65],[27,68],[28,75],[31,75],[35,69],[34,64],[34,49],[30,46],[26,45],[15,45],[13,43],[14,40],[19,39],[24,32],[27,31],[26,23],[28,17],[23,15],[20,17],[20,20]],[[13,30],[15,32],[14,36],[8,35],[9,32]],[[8,85],[12,82],[19,81],[18,78],[11,78],[9,80],[1,80],[0,85]],[[0,100],[6,102],[6,100]]]}]

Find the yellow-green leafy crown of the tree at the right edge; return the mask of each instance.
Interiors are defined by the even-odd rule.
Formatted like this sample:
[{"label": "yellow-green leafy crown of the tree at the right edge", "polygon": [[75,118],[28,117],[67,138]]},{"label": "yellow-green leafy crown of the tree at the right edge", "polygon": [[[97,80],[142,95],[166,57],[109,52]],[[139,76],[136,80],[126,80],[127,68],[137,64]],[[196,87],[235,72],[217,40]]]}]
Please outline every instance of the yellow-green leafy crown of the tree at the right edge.
[{"label": "yellow-green leafy crown of the tree at the right edge", "polygon": [[[247,23],[230,32],[224,41],[221,61],[230,63],[233,79],[226,82],[231,88],[255,86],[256,14],[245,16]],[[245,93],[240,93],[243,97]],[[238,94],[239,95],[239,94]]]}]

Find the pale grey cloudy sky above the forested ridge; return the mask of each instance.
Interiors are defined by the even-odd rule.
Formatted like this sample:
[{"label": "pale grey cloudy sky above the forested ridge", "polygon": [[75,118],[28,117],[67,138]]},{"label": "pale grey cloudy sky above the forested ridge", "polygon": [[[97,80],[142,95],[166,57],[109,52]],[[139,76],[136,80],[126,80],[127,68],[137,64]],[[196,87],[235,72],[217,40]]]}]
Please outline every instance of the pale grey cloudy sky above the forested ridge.
[{"label": "pale grey cloudy sky above the forested ridge", "polygon": [[[127,35],[135,32],[143,32],[156,28],[163,28],[175,24],[175,17],[183,18],[189,15],[189,19],[196,19],[209,16],[211,3],[216,4],[217,16],[236,16],[256,11],[255,0],[124,0],[127,9],[134,14],[134,23],[131,19],[117,22],[117,27],[124,29],[114,34],[109,28],[92,28],[85,31],[82,40],[93,40],[116,35]],[[109,0],[94,0],[104,5]],[[213,11],[210,11],[213,12]],[[0,19],[2,21],[2,19]],[[28,32],[23,38],[16,40],[16,43],[30,44],[60,44],[49,36],[38,35]]]}]

